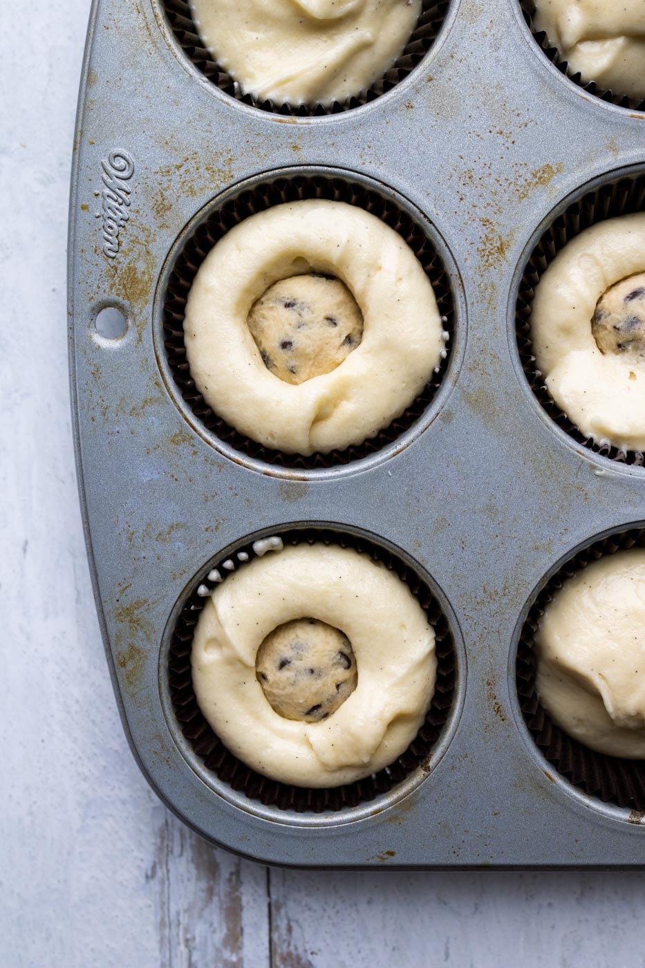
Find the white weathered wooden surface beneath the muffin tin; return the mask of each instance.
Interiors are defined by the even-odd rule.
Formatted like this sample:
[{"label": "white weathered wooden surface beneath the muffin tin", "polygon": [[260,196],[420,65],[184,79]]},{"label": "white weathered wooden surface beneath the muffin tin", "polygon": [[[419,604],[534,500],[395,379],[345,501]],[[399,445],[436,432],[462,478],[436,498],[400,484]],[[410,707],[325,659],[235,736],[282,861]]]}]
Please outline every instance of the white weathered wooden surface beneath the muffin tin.
[{"label": "white weathered wooden surface beneath the muffin tin", "polygon": [[201,842],[139,774],[94,613],[68,412],[88,12],[0,0],[0,968],[644,966],[645,874],[267,871]]}]

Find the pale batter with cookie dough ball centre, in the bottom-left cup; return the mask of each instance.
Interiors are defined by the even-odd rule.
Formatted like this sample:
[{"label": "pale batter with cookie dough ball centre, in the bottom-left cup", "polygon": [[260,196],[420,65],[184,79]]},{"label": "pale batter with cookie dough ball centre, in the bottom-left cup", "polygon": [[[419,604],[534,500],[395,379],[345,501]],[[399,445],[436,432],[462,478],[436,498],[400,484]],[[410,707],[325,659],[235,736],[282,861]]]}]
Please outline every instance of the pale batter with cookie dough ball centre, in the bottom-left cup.
[{"label": "pale batter with cookie dough ball centre, in the bottom-left cup", "polygon": [[[305,650],[311,664],[299,667],[320,668],[323,692],[296,676],[267,694],[290,668],[276,662],[293,665]],[[303,544],[242,565],[216,588],[196,627],[192,669],[200,710],[234,756],[278,782],[335,787],[382,770],[415,739],[435,688],[435,634],[384,565]],[[340,705],[317,719],[302,711],[312,699],[323,706],[332,680],[345,690]]]}]

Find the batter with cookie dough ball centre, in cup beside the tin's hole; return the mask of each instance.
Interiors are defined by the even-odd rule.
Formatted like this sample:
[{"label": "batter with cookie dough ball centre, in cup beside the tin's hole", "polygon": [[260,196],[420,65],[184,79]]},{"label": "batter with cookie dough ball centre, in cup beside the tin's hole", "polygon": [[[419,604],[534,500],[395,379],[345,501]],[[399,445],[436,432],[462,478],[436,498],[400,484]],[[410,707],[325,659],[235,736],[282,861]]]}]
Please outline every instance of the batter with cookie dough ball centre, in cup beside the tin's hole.
[{"label": "batter with cookie dough ball centre, in cup beside the tin's hole", "polygon": [[[287,307],[293,287],[307,294],[307,311]],[[208,406],[288,454],[375,437],[432,377],[444,339],[432,286],[401,236],[355,205],[323,199],[285,202],[231,228],[201,263],[184,318],[191,376]]]}]

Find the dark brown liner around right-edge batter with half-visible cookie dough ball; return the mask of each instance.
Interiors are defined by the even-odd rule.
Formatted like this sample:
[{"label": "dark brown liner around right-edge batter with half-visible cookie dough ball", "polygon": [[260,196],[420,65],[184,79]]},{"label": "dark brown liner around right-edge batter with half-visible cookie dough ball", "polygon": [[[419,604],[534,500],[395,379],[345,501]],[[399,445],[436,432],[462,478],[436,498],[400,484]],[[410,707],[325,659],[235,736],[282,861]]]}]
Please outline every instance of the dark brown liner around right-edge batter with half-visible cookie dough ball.
[{"label": "dark brown liner around right-edge batter with half-visible cookie dough ball", "polygon": [[632,175],[606,182],[572,202],[543,232],[537,242],[522,275],[515,308],[515,332],[522,368],[542,408],[546,410],[553,422],[577,443],[583,444],[589,450],[611,461],[633,467],[643,466],[643,454],[640,451],[619,449],[611,444],[596,442],[586,437],[551,397],[542,374],[536,368],[531,338],[531,311],[537,283],[550,262],[574,236],[605,219],[644,210],[645,176],[643,175]]}]

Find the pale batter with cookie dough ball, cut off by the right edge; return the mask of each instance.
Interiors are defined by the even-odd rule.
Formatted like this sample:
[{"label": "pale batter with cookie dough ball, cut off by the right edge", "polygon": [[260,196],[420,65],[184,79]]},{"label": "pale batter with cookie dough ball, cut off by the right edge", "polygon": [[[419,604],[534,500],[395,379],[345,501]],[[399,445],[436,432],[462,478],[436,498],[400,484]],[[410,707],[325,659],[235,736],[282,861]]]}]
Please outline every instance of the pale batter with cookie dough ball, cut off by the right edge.
[{"label": "pale batter with cookie dough ball, cut off by the right edge", "polygon": [[554,401],[597,443],[645,450],[645,213],[587,228],[541,277],[531,330]]}]

